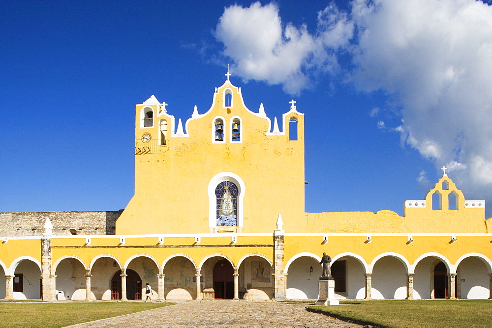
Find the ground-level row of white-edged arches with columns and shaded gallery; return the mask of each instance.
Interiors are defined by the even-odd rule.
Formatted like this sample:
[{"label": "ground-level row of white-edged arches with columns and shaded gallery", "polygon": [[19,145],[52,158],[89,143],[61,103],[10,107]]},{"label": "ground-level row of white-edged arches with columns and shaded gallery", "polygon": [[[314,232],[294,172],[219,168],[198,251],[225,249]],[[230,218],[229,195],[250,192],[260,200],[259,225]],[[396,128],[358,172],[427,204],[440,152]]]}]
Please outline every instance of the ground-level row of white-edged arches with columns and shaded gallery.
[{"label": "ground-level row of white-edged arches with columns and shaded gallery", "polygon": [[[319,261],[314,254],[298,254],[287,261],[286,298],[318,297]],[[57,298],[141,300],[146,283],[153,287],[157,300],[201,299],[207,288],[214,289],[215,299],[268,300],[275,296],[274,268],[264,256],[247,256],[239,267],[220,255],[202,262],[197,267],[187,256],[176,254],[159,265],[153,257],[141,254],[122,268],[116,258],[98,256],[86,268],[77,257],[66,256],[55,266]],[[409,265],[398,254],[382,254],[366,264],[357,255],[342,254],[334,258],[332,273],[340,299],[487,299],[492,297],[490,263],[485,257],[470,255],[450,265],[445,257],[432,254]],[[12,269],[13,274],[6,274]],[[0,274],[0,298],[42,297],[41,268],[36,260],[19,259],[9,269],[2,264]]]}]

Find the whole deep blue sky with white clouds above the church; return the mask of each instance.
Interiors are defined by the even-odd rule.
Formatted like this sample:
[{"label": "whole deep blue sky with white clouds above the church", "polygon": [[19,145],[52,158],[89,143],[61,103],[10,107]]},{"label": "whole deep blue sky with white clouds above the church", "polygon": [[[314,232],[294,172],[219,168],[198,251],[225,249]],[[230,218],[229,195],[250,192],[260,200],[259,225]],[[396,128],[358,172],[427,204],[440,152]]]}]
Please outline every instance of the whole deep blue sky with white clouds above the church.
[{"label": "whole deep blue sky with white clouds above the church", "polygon": [[[0,1],[0,211],[123,209],[134,105],[185,121],[231,65],[306,114],[306,211],[393,210],[448,175],[492,201],[483,1]],[[487,207],[487,217],[492,213]]]}]

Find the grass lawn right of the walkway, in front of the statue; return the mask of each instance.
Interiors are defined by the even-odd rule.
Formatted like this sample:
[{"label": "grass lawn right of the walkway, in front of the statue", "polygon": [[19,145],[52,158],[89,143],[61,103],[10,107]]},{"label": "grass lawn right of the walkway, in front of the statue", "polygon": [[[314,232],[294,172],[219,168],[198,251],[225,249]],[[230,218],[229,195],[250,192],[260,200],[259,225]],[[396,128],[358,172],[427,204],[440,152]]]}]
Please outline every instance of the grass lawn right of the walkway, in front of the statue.
[{"label": "grass lawn right of the walkway, in front of the statue", "polygon": [[492,327],[492,300],[340,301],[308,309],[378,327]]}]

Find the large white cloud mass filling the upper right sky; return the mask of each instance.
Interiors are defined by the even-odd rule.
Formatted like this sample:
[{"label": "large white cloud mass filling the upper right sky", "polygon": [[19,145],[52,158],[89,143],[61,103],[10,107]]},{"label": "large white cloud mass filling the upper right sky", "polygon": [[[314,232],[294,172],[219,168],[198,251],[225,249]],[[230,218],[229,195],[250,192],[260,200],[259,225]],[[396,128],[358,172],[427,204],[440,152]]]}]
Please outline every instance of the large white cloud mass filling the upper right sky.
[{"label": "large white cloud mass filling the upper right sky", "polygon": [[405,142],[436,168],[448,165],[465,196],[492,202],[492,7],[356,0],[352,17],[352,81],[391,94]]}]

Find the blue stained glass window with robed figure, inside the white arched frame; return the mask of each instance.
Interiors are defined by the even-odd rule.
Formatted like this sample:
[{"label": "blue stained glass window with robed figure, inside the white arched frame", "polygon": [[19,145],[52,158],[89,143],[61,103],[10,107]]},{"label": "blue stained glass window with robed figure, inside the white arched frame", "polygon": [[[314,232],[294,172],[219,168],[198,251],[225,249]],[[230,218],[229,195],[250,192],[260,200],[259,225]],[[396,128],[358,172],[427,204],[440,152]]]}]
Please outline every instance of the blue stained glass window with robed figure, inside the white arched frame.
[{"label": "blue stained glass window with robed figure, inside the white arched frame", "polygon": [[236,226],[238,187],[231,181],[223,181],[215,188],[215,197],[217,226]]}]

